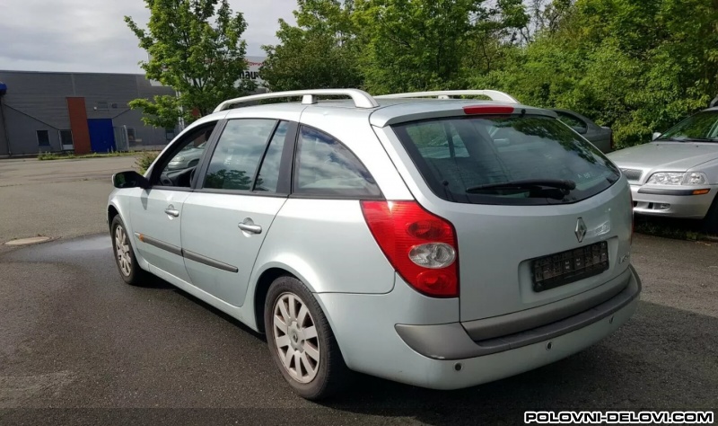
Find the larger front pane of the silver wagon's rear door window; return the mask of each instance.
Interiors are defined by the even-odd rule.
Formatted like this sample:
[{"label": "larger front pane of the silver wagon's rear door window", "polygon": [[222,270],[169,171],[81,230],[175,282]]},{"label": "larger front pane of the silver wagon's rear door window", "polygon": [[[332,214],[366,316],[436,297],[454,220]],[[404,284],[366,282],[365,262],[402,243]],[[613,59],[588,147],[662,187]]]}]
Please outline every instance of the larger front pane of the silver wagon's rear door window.
[{"label": "larger front pane of the silver wagon's rear door window", "polygon": [[230,120],[212,155],[204,188],[251,191],[276,120]]}]

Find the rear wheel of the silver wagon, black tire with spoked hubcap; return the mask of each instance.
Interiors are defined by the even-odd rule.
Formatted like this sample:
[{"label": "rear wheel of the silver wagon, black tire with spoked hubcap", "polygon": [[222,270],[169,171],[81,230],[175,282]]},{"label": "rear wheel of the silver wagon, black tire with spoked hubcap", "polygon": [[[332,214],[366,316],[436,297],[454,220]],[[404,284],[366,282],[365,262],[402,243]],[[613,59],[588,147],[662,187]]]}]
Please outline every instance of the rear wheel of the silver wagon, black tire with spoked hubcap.
[{"label": "rear wheel of the silver wagon, black tire with spoked hubcap", "polygon": [[277,278],[267,292],[264,314],[272,359],[294,393],[317,401],[336,395],[349,383],[353,375],[327,317],[302,281]]}]

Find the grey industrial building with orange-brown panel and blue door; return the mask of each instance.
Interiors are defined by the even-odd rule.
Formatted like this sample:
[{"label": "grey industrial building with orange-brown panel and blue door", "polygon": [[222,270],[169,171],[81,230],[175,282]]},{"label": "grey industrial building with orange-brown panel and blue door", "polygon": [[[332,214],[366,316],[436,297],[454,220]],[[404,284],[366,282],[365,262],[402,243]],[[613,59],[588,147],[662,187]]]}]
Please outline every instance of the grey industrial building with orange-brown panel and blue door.
[{"label": "grey industrial building with orange-brown panel and blue door", "polygon": [[[259,85],[264,58],[247,57],[242,78]],[[175,94],[141,74],[0,71],[0,158],[42,152],[88,154],[156,148],[179,131],[144,125],[127,103]]]}]

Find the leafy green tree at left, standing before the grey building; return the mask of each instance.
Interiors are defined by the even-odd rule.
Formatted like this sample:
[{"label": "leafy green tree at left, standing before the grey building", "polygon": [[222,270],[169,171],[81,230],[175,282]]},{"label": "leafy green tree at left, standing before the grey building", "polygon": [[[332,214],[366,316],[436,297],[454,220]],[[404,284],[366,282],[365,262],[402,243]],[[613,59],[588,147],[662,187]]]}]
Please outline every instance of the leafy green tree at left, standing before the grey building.
[{"label": "leafy green tree at left, standing before the grey building", "polygon": [[[181,118],[197,120],[227,98],[254,90],[241,78],[247,69],[247,29],[242,13],[233,13],[227,0],[144,0],[150,10],[147,28],[125,16],[139,46],[149,54],[140,63],[147,78],[177,91],[177,96],[136,99],[133,109],[145,113],[144,122],[174,128]],[[197,114],[198,113],[198,114]]]}]

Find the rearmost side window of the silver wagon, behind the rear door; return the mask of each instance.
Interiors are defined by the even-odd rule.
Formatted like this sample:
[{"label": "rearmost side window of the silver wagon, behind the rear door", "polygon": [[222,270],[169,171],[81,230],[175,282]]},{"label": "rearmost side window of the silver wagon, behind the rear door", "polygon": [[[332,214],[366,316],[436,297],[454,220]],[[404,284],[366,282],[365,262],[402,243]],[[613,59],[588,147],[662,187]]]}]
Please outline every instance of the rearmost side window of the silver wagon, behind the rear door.
[{"label": "rearmost side window of the silver wagon, behind the rear door", "polygon": [[302,127],[293,192],[302,195],[376,198],[381,191],[358,158],[337,139]]}]

